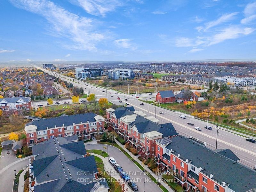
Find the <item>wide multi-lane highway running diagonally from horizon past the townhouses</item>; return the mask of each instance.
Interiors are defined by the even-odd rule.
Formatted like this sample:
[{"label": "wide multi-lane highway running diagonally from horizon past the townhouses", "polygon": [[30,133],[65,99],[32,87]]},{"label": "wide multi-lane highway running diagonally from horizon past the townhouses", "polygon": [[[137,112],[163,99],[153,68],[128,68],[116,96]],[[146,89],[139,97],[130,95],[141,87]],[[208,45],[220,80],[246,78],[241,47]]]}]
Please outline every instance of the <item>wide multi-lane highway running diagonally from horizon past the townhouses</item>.
[{"label": "wide multi-lane highway running diagonally from horizon past the townhouses", "polygon": [[[51,74],[53,76],[59,76],[62,80],[68,81],[67,76],[60,75],[58,73],[54,73],[52,71],[48,71],[45,69],[44,70],[46,73]],[[69,78],[69,81],[73,82],[74,78]],[[74,83],[74,82],[73,82]],[[206,129],[204,126],[206,125],[206,122],[195,119],[193,117],[187,116],[186,119],[180,118],[180,113],[175,113],[167,109],[163,109],[160,107],[155,107],[154,105],[144,103],[144,105],[140,105],[141,101],[139,101],[139,98],[136,98],[135,96],[132,95],[127,95],[123,93],[115,94],[116,91],[113,90],[106,90],[105,88],[100,89],[97,87],[95,88],[94,85],[85,83],[83,81],[76,80],[76,85],[78,87],[83,87],[85,92],[87,91],[89,93],[89,87],[90,87],[90,93],[94,93],[95,96],[99,99],[102,97],[107,97],[109,101],[116,103],[116,104],[124,104],[124,98],[128,99],[128,101],[125,101],[129,103],[128,106],[133,106],[136,110],[141,110],[147,115],[155,116],[155,109],[156,109],[156,118],[160,120],[160,124],[162,123],[168,123],[172,122],[174,125],[175,129],[177,132],[179,132],[181,135],[184,136],[192,136],[194,138],[198,138],[201,141],[205,141],[207,143],[207,147],[215,149],[216,145],[216,132],[217,128],[215,127],[214,124],[210,124],[209,126],[212,126],[212,130],[208,130],[206,134]],[[102,91],[105,92],[102,92]],[[111,93],[110,93],[111,92]],[[113,95],[113,97],[111,97]],[[142,94],[141,98],[148,98],[148,97],[153,97],[156,95],[156,93],[153,93],[153,95],[149,94]],[[119,100],[117,100],[117,96],[121,98],[123,101],[122,103],[119,103]],[[164,114],[159,114],[159,112],[163,112]],[[194,124],[194,126],[188,125],[187,123],[191,122]],[[202,131],[197,131],[194,129],[194,127],[200,127],[202,128]],[[256,165],[256,144],[255,143],[250,143],[248,141],[245,141],[245,138],[239,135],[236,135],[231,132],[227,132],[225,130],[219,129],[218,133],[218,144],[217,144],[218,149],[223,149],[223,148],[229,148],[232,150],[236,156],[240,158],[240,162],[243,163],[244,165],[254,167]]]}]

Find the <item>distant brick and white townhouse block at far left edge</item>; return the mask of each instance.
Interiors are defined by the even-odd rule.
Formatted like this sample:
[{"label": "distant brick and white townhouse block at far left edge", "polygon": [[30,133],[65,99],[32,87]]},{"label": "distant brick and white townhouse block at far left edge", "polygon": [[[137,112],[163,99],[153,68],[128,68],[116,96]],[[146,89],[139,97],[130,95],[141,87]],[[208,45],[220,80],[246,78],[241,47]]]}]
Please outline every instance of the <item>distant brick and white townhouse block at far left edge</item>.
[{"label": "distant brick and white townhouse block at far left edge", "polygon": [[12,97],[0,99],[0,109],[5,113],[28,112],[31,108],[30,97]]}]

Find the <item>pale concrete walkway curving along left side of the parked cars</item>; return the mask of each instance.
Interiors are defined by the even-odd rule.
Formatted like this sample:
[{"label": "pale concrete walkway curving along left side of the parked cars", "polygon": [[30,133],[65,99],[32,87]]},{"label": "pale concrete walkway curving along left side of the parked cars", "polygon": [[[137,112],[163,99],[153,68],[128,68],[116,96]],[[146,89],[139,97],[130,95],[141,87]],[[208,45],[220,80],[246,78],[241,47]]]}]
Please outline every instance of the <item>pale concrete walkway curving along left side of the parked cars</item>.
[{"label": "pale concrete walkway curving along left side of the parked cars", "polygon": [[100,157],[101,160],[103,161],[103,164],[104,164],[104,170],[108,173],[108,175],[110,175],[111,177],[113,177],[117,181],[122,180],[122,182],[125,184],[125,187],[128,189],[128,192],[132,192],[132,189],[128,187],[128,184],[126,182],[124,182],[124,180],[116,172],[114,167],[108,162],[108,157],[102,157],[102,156],[100,156],[98,154],[95,154],[95,153],[90,153],[90,154],[94,155],[94,156],[97,156],[97,157]]}]

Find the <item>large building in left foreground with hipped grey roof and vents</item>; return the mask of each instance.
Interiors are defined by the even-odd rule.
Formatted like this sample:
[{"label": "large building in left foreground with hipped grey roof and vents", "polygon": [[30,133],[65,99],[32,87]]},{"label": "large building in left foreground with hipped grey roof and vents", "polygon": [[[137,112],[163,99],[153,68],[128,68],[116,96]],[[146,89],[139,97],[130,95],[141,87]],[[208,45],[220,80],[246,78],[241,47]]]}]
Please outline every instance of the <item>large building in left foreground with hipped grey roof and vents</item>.
[{"label": "large building in left foreground with hipped grey roof and vents", "polygon": [[30,192],[108,192],[105,178],[98,178],[93,156],[86,156],[77,136],[53,137],[32,146],[29,159]]}]

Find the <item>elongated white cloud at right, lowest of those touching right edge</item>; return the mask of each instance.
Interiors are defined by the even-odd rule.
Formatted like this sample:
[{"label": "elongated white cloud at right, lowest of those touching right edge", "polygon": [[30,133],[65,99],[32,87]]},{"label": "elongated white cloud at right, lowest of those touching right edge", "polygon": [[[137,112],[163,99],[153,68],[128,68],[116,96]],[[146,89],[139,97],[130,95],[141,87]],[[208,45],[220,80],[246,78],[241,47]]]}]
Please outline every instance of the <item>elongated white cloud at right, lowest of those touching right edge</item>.
[{"label": "elongated white cloud at right, lowest of those touching right edge", "polygon": [[228,28],[225,28],[220,32],[219,34],[216,34],[209,38],[207,46],[218,44],[222,41],[225,41],[227,39],[236,39],[242,35],[249,35],[251,34],[255,29],[253,28],[241,28],[238,26],[231,26]]}]

